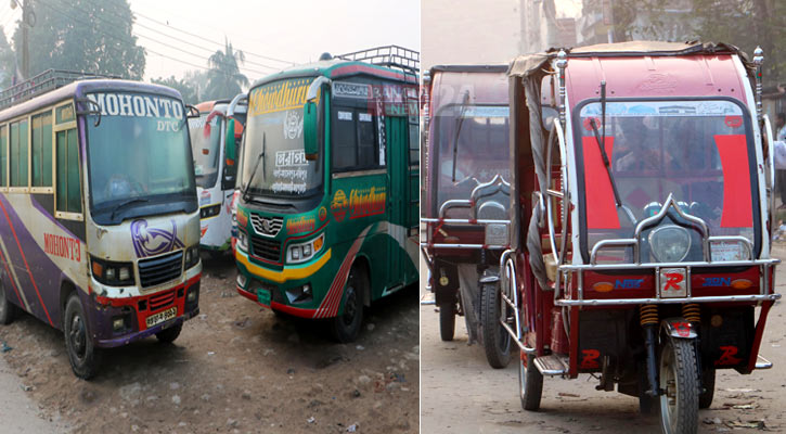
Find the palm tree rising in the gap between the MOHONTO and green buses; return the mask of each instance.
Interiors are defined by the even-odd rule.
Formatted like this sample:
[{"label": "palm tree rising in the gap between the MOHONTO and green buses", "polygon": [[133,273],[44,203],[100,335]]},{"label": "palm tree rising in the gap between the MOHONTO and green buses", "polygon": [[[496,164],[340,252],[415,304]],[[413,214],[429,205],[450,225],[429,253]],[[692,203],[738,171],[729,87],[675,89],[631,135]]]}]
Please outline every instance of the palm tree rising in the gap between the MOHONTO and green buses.
[{"label": "palm tree rising in the gap between the MOHONTO and green buses", "polygon": [[233,50],[232,42],[227,40],[224,50],[218,50],[207,60],[210,69],[207,72],[207,100],[232,98],[248,86],[248,78],[241,74],[240,64],[246,61],[241,50]]}]

